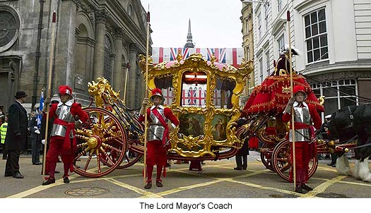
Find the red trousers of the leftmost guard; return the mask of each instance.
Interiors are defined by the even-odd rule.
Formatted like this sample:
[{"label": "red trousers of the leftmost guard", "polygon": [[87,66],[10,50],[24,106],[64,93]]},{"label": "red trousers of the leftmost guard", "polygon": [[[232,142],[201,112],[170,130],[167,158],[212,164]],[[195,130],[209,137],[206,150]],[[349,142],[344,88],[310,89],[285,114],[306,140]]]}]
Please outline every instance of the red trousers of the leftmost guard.
[{"label": "red trousers of the leftmost guard", "polygon": [[45,166],[48,166],[49,177],[55,179],[55,168],[57,167],[58,157],[61,154],[61,160],[64,166],[64,175],[63,177],[69,176],[69,169],[73,168],[73,152],[62,152],[62,147],[64,144],[64,137],[53,136],[50,138],[49,150],[47,151],[47,163]]}]

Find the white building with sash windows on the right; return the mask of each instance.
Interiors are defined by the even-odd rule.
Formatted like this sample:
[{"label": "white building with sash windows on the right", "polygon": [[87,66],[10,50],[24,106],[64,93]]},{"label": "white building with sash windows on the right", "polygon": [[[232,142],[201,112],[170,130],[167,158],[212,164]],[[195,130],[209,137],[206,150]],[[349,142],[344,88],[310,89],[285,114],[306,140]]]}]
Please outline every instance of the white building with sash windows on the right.
[{"label": "white building with sash windows on the right", "polygon": [[273,72],[278,50],[290,40],[301,51],[293,57],[294,70],[317,97],[325,96],[323,116],[371,102],[370,1],[262,0],[252,3],[252,11],[256,85]]}]

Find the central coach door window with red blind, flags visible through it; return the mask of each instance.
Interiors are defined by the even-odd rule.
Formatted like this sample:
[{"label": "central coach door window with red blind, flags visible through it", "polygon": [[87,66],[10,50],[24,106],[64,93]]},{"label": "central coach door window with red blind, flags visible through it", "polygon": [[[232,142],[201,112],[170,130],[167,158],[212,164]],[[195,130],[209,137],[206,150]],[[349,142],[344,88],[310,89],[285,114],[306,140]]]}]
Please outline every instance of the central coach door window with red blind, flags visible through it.
[{"label": "central coach door window with red blind, flags visible through it", "polygon": [[182,94],[180,106],[205,107],[206,106],[207,75],[204,72],[186,71],[182,76]]}]

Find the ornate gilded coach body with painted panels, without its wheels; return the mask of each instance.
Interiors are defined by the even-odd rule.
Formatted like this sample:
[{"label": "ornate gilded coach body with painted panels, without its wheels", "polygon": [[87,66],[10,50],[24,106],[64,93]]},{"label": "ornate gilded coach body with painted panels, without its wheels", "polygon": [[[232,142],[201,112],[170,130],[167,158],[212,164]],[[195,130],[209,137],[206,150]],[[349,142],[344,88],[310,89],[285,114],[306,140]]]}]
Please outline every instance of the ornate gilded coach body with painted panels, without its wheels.
[{"label": "ornate gilded coach body with painted panels, without its wheels", "polygon": [[[179,56],[179,55],[178,55]],[[242,146],[235,133],[240,118],[239,99],[252,62],[239,68],[206,61],[201,54],[149,64],[148,90],[158,87],[180,125],[170,134],[172,159],[215,159],[222,150]],[[141,65],[146,61],[141,56]]]}]

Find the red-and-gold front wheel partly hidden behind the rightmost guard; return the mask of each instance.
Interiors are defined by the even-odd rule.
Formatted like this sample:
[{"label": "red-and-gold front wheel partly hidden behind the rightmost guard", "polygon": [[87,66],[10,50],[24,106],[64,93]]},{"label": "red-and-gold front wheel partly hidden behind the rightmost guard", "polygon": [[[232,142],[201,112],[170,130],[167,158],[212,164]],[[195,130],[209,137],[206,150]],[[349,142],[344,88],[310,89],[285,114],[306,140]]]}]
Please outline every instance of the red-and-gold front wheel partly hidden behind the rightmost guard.
[{"label": "red-and-gold front wheel partly hidden behind the rightmost guard", "polygon": [[[285,181],[290,182],[289,171],[290,167],[292,166],[293,162],[290,162],[290,144],[289,140],[282,140],[281,142],[274,147],[273,154],[272,154],[272,166],[274,171],[283,178]],[[310,171],[309,176],[313,176],[315,171],[318,167],[317,157],[313,157],[310,160]]]}]

